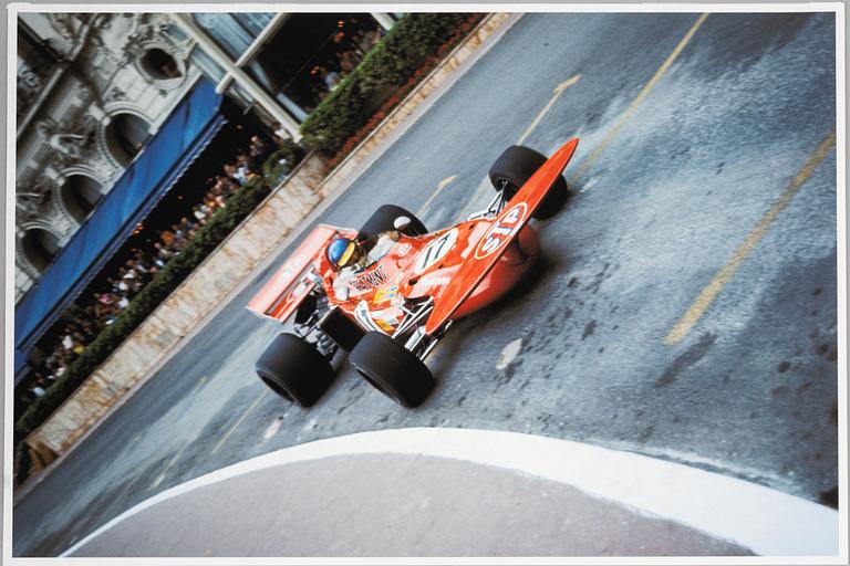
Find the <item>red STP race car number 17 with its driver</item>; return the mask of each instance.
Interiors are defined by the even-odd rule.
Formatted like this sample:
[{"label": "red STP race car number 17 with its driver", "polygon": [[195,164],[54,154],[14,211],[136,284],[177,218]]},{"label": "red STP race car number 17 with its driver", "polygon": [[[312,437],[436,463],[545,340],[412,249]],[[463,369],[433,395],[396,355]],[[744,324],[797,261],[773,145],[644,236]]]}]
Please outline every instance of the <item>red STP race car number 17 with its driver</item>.
[{"label": "red STP race car number 17 with its driver", "polygon": [[339,348],[380,391],[405,407],[434,387],[424,359],[453,321],[505,295],[540,253],[531,218],[549,218],[567,199],[561,171],[579,140],[549,159],[509,147],[490,168],[487,209],[428,232],[406,210],[385,205],[360,230],[319,224],[249,302],[288,321],[257,360],[257,374],[302,407],[334,378]]}]

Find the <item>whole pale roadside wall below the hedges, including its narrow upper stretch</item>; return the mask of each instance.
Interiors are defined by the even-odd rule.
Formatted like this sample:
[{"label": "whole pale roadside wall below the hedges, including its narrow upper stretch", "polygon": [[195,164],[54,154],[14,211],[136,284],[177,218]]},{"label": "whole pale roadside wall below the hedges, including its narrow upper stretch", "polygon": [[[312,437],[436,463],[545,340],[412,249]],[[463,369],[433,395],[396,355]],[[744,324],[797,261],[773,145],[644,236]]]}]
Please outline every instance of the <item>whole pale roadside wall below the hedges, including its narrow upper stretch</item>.
[{"label": "whole pale roadside wall below the hedges, including its narrow upper stretch", "polygon": [[187,335],[271,253],[303,218],[350,177],[387,136],[432,95],[496,30],[517,14],[485,18],[455,50],[332,172],[313,154],[231,233],[195,272],[92,374],[25,442],[66,452],[120,399],[151,376]]}]

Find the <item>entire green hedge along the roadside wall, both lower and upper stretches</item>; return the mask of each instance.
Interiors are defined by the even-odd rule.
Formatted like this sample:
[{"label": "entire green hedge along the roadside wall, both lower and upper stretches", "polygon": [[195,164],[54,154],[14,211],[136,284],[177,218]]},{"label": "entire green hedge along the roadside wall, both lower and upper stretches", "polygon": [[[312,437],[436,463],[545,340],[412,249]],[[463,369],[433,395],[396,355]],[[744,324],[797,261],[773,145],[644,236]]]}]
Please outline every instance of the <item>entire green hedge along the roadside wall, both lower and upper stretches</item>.
[{"label": "entire green hedge along the roadside wall, both lower and upper stretches", "polygon": [[[218,247],[270,192],[284,175],[278,164],[294,166],[304,149],[329,155],[351,149],[401,102],[442,56],[481,19],[480,13],[410,13],[374,46],[301,125],[301,147],[292,144],[276,151],[263,165],[263,175],[250,179],[194,235],[179,255],[131,301],[58,378],[33,401],[14,426],[15,442],[35,430],[147,318],[147,316]],[[380,108],[380,112],[375,112]],[[348,143],[348,144],[346,144]],[[338,155],[334,161],[338,161]]]}]

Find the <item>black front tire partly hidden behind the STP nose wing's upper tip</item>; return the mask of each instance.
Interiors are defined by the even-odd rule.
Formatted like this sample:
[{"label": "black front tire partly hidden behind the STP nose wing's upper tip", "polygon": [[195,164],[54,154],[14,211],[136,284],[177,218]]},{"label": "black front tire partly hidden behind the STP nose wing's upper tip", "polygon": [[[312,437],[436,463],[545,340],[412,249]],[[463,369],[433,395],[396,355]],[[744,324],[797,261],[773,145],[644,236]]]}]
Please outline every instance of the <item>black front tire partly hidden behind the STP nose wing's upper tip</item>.
[{"label": "black front tire partly hidden behind the STP nose wing's upper tip", "polygon": [[[496,190],[505,189],[505,197],[510,200],[520,187],[547,161],[547,157],[530,147],[510,146],[490,167],[490,182]],[[540,206],[533,218],[546,220],[553,217],[567,201],[569,189],[563,176],[559,175],[554,187]]]}]

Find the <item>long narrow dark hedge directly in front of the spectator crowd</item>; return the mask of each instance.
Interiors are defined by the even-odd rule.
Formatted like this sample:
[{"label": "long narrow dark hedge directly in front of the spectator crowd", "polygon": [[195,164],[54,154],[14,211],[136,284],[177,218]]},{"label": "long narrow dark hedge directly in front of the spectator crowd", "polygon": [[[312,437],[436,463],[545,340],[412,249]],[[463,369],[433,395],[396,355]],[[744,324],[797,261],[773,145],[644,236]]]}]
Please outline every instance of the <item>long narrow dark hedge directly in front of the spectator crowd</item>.
[{"label": "long narrow dark hedge directly in front of the spectator crowd", "polygon": [[[276,156],[272,155],[272,159]],[[270,192],[267,177],[258,175],[232,195],[227,205],[198,229],[186,248],[133,297],[115,322],[21,415],[14,424],[15,442],[41,426]]]}]

